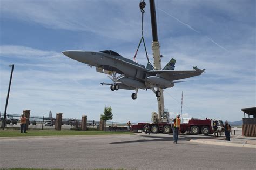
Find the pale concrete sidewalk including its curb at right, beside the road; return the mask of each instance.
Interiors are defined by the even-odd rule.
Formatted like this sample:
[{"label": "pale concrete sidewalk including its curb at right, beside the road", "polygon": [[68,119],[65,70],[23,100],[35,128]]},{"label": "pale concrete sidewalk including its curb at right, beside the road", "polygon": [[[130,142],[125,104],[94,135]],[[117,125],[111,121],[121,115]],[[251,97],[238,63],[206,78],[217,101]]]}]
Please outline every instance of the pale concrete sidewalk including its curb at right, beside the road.
[{"label": "pale concrete sidewalk including its curb at right, beside the road", "polygon": [[231,136],[230,140],[231,141],[227,141],[224,136],[217,138],[191,139],[190,141],[201,144],[256,148],[256,137],[244,137],[242,135],[233,135]]}]

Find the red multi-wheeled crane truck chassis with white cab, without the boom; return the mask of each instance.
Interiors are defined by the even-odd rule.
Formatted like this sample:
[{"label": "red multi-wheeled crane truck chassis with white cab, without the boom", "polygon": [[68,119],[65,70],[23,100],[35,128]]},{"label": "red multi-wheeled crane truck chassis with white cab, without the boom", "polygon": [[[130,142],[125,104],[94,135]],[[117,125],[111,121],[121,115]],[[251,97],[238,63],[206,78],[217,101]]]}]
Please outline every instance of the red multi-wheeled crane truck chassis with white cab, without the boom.
[{"label": "red multi-wheeled crane truck chassis with white cab, without the boom", "polygon": [[[213,134],[213,123],[217,124],[218,132],[224,131],[224,125],[221,120],[212,119],[190,119],[188,123],[183,123],[180,125],[180,133],[188,134]],[[132,125],[131,129],[133,132],[145,132],[146,123],[138,123],[137,125]],[[173,133],[172,123],[150,123],[151,133]]]}]

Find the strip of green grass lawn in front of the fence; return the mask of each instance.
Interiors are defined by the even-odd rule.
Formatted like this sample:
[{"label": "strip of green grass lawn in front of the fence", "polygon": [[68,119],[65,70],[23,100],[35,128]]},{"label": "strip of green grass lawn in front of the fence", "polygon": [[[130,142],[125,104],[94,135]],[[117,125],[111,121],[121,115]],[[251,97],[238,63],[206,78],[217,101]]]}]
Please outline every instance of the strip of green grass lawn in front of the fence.
[{"label": "strip of green grass lawn in front of the fence", "polygon": [[61,135],[104,135],[104,134],[133,134],[131,132],[110,132],[110,131],[70,131],[70,130],[29,130],[28,133],[21,133],[19,130],[0,130],[1,137],[28,137],[28,136],[61,136]]}]

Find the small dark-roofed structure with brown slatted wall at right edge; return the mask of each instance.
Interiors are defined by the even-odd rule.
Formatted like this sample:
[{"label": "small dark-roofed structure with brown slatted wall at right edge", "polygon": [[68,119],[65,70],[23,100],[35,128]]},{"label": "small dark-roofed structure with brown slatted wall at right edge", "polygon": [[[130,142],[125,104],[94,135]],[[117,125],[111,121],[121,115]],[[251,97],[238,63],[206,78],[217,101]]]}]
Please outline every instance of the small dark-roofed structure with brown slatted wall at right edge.
[{"label": "small dark-roofed structure with brown slatted wall at right edge", "polygon": [[[256,137],[256,107],[242,108],[244,115],[247,114],[248,118],[242,118],[242,134],[246,137]],[[250,118],[250,115],[253,118]]]}]

